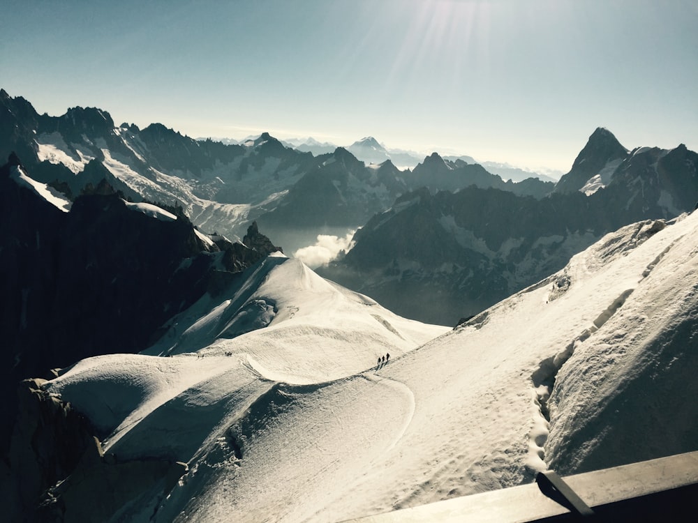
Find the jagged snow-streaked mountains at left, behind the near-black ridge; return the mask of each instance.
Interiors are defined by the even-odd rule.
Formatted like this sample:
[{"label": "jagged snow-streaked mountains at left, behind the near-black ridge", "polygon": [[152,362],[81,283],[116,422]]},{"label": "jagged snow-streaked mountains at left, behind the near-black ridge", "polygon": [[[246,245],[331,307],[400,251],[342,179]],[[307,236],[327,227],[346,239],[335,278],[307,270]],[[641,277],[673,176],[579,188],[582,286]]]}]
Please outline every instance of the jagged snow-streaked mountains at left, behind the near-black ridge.
[{"label": "jagged snow-streaked mountains at left, behind the near-black ridge", "polygon": [[0,90],[0,154],[12,151],[34,179],[72,195],[106,179],[135,201],[182,206],[202,230],[230,238],[242,236],[316,165],[311,154],[267,133],[243,145],[198,142],[159,123],[117,127],[91,107],[39,115],[24,98]]}]

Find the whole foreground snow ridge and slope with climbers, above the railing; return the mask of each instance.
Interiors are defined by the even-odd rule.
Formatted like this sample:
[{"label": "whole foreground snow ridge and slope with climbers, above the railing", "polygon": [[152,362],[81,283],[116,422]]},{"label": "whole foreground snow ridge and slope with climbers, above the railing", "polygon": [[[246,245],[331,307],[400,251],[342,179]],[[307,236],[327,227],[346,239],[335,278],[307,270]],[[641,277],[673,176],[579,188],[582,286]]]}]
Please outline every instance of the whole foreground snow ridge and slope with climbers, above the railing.
[{"label": "whole foreground snow ridge and slope with climbers, above the railing", "polygon": [[339,521],[696,450],[698,215],[660,225],[455,331],[269,257],[153,356],[90,358],[49,390],[107,452],[188,462],[155,521]]}]

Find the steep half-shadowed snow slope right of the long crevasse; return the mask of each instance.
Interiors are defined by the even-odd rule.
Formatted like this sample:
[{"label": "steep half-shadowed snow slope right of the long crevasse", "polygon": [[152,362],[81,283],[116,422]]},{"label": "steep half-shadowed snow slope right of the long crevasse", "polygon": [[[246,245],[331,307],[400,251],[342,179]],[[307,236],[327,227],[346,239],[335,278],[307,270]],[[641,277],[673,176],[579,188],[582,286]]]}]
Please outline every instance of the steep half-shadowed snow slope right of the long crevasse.
[{"label": "steep half-shadowed snow slope right of the long crevasse", "polygon": [[[551,464],[588,471],[695,450],[698,252],[695,213],[637,248],[637,287],[560,372]],[[584,423],[580,423],[581,420]],[[572,449],[583,440],[582,448]]]}]

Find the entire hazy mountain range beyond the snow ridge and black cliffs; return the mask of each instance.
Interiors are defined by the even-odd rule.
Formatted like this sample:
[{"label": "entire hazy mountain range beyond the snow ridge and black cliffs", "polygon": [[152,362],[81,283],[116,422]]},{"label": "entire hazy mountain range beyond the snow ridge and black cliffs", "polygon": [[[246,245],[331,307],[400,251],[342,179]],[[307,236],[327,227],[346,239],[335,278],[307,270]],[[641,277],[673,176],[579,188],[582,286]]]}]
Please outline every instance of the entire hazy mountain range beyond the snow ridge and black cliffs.
[{"label": "entire hazy mountain range beyond the snow ridge and black cliffs", "polygon": [[438,153],[399,169],[372,137],[315,156],[268,133],[222,144],[158,123],[117,127],[97,108],[39,115],[6,91],[0,109],[0,154],[14,151],[69,199],[105,180],[134,202],[181,207],[202,232],[232,242],[256,221],[289,255],[320,234],[358,230],[352,250],[320,272],[439,324],[530,285],[606,232],[698,200],[694,152],[629,151],[602,128],[558,183],[514,182]]}]

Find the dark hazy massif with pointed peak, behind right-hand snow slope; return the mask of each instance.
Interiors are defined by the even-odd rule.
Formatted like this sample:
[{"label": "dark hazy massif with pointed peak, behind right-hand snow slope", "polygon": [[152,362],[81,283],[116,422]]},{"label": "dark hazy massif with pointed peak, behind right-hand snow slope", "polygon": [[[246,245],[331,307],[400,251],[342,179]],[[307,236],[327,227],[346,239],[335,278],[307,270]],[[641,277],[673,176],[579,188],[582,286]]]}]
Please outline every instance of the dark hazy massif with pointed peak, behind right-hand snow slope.
[{"label": "dark hazy massif with pointed peak, behind right-hand snow slope", "polygon": [[695,152],[628,151],[599,128],[550,195],[473,186],[410,192],[318,272],[403,316],[455,324],[558,271],[604,234],[674,218],[697,201]]}]

